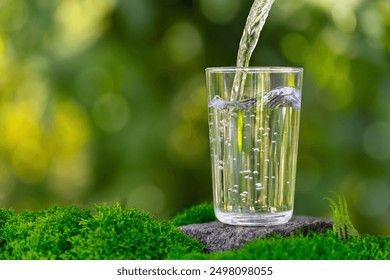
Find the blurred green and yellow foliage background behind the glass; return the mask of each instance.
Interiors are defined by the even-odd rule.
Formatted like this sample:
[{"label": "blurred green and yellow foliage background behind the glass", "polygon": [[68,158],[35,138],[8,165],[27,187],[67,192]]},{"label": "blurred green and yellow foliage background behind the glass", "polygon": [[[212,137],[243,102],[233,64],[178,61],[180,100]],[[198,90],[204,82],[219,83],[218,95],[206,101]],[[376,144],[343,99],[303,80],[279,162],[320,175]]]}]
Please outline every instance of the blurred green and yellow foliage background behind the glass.
[{"label": "blurred green and yellow foliage background behind the glass", "polygon": [[[204,68],[250,0],[0,0],[0,207],[212,200]],[[295,214],[390,234],[390,1],[276,0],[252,66],[305,68]]]}]

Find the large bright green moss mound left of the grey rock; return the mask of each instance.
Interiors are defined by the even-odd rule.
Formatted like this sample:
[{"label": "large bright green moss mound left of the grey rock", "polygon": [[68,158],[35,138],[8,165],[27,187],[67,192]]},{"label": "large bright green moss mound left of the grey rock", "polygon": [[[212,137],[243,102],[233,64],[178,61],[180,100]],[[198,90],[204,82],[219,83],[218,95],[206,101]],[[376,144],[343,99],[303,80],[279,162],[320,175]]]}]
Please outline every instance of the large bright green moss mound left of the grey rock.
[{"label": "large bright green moss mound left of the grey rock", "polygon": [[120,206],[0,212],[0,259],[165,259],[203,246],[169,222]]}]

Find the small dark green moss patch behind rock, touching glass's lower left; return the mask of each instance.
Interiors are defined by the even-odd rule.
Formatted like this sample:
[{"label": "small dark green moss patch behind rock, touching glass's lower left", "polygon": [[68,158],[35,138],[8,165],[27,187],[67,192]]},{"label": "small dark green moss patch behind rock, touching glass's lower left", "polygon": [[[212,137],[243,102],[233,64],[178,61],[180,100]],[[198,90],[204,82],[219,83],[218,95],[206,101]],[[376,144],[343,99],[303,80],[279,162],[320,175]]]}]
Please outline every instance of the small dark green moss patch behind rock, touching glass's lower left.
[{"label": "small dark green moss patch behind rock, touching glass's lower left", "polygon": [[204,202],[177,214],[171,221],[176,226],[200,224],[215,221],[213,204]]}]

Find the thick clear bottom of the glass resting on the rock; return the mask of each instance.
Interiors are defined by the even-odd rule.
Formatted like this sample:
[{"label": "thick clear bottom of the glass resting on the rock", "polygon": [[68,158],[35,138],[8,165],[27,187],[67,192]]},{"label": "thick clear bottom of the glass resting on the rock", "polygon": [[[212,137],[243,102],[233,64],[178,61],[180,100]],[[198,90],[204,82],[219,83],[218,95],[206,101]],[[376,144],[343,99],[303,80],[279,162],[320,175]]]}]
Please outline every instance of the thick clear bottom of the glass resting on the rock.
[{"label": "thick clear bottom of the glass resting on the rock", "polygon": [[251,212],[224,212],[214,209],[217,219],[233,226],[275,226],[287,223],[293,214],[293,210],[275,213],[251,213]]}]

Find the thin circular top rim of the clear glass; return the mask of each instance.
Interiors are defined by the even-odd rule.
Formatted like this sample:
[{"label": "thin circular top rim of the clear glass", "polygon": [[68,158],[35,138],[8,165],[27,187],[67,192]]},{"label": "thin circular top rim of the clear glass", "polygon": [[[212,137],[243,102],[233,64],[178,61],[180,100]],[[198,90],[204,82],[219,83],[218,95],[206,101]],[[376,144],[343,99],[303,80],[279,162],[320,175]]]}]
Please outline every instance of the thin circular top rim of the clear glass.
[{"label": "thin circular top rim of the clear glass", "polygon": [[247,73],[302,73],[301,67],[284,67],[284,66],[222,66],[222,67],[207,67],[207,73],[235,73],[243,71]]}]

